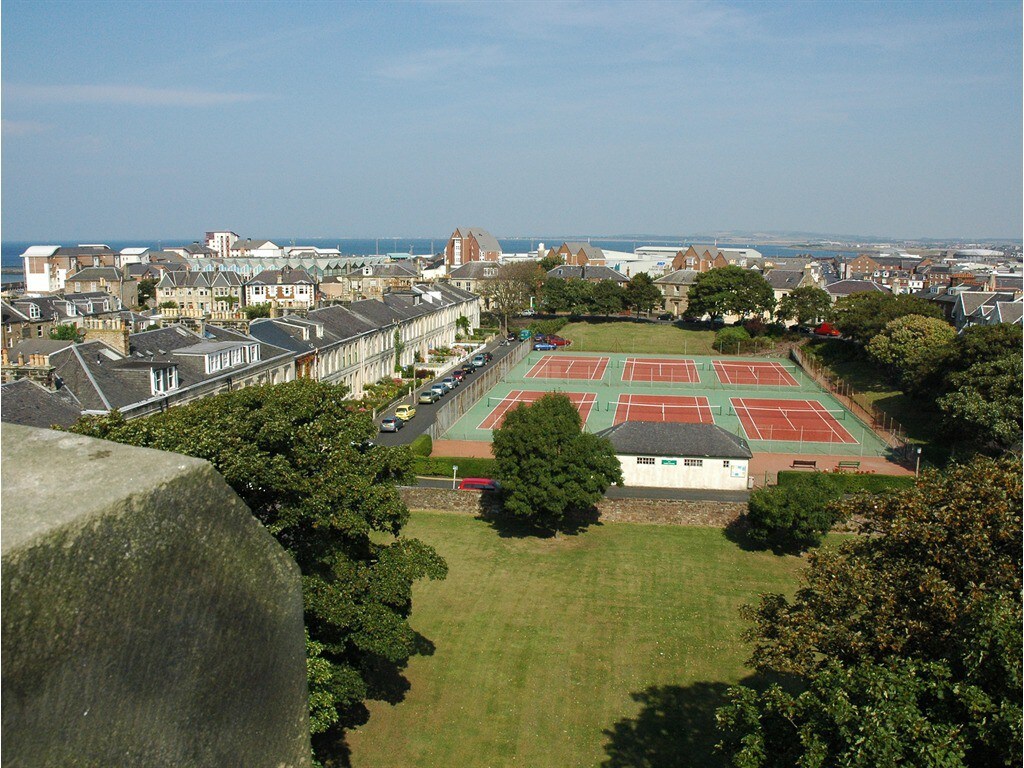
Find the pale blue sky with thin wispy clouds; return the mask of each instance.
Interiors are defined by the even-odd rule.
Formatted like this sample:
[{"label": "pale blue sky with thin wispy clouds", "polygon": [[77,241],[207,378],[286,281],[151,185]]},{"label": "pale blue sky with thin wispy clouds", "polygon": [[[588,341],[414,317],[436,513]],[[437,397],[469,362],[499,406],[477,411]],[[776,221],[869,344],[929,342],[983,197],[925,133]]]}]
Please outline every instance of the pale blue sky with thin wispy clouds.
[{"label": "pale blue sky with thin wispy clouds", "polygon": [[4,0],[0,43],[5,241],[1022,234],[1018,0]]}]

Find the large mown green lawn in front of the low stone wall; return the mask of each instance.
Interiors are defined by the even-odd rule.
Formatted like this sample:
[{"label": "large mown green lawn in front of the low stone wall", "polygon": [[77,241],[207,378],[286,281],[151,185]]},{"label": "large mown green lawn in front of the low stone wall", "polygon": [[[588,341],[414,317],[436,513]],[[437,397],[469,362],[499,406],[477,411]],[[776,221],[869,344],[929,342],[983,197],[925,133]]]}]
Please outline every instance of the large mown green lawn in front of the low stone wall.
[{"label": "large mown green lawn in front of the low stone wall", "polygon": [[804,565],[717,528],[520,539],[415,512],[408,534],[450,567],[415,591],[435,650],[410,664],[402,702],[372,702],[349,734],[355,768],[716,765],[714,710],[749,674],[737,610],[792,593]]}]

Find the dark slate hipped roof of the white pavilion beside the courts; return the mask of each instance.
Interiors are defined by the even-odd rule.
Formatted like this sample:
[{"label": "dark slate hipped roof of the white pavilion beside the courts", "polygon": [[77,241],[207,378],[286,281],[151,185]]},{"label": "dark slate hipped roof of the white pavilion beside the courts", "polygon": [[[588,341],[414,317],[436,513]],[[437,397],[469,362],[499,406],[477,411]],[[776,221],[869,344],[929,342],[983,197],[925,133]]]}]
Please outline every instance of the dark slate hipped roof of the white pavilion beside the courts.
[{"label": "dark slate hipped roof of the white pavilion beside the courts", "polygon": [[616,454],[706,459],[750,459],[742,437],[714,424],[627,421],[597,433],[611,440]]}]

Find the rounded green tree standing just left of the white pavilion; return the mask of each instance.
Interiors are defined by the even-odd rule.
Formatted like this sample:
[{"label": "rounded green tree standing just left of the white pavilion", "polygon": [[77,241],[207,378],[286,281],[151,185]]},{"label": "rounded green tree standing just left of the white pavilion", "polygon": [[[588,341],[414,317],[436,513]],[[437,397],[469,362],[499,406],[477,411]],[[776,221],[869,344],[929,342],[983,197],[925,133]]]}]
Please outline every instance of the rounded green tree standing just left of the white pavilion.
[{"label": "rounded green tree standing just left of the white pavilion", "polygon": [[583,431],[563,394],[509,411],[493,450],[505,511],[546,529],[589,510],[608,485],[623,481],[611,443]]}]

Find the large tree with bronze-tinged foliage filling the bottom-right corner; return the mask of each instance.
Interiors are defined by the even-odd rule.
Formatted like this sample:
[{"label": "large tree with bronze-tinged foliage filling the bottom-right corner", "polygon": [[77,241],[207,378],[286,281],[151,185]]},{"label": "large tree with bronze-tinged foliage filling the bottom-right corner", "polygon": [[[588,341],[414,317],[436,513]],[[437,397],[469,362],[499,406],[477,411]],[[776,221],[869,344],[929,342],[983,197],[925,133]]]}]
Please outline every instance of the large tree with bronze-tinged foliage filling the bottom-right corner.
[{"label": "large tree with bronze-tinged foliage filling the bottom-right corner", "polygon": [[736,766],[1021,761],[1021,472],[978,458],[844,503],[863,536],[746,615],[753,664],[793,676],[719,711]]}]

